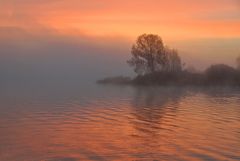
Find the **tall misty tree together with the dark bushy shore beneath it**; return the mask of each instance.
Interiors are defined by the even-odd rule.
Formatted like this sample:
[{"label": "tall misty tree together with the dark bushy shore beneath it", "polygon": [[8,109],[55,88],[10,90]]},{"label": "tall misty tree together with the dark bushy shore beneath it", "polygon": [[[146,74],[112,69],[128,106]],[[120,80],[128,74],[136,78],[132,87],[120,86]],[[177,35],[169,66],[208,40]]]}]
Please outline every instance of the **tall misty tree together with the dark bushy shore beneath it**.
[{"label": "tall misty tree together with the dark bushy shore beneath it", "polygon": [[178,51],[164,46],[158,35],[140,35],[131,50],[127,63],[137,76],[112,77],[99,80],[102,84],[132,85],[198,85],[198,86],[240,86],[240,57],[237,68],[225,64],[211,65],[203,72],[186,68]]}]

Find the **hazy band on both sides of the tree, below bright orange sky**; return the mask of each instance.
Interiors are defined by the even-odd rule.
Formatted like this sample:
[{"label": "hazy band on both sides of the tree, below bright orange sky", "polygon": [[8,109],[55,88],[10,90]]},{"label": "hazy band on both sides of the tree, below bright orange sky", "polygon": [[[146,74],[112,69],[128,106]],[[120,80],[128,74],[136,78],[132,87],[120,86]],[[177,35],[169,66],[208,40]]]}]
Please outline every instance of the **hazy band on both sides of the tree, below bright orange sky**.
[{"label": "hazy band on both sides of the tree, below bright orange sky", "polygon": [[[0,86],[69,87],[109,76],[134,76],[126,60],[134,40],[124,37],[66,36],[45,30],[0,29]],[[164,40],[164,38],[163,38]],[[234,65],[239,39],[166,41],[187,65],[203,70],[212,63]]]}]

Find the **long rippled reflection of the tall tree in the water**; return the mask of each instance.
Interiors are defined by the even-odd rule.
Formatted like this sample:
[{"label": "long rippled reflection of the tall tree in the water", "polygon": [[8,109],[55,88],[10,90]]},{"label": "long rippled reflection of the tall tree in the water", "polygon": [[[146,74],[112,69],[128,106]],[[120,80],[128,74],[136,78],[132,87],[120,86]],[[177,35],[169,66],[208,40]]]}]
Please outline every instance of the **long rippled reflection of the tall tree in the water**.
[{"label": "long rippled reflection of the tall tree in the water", "polygon": [[158,132],[162,129],[163,117],[175,117],[179,102],[185,94],[180,88],[136,88],[132,100],[134,127],[139,132]]}]

